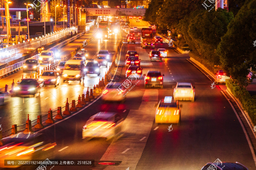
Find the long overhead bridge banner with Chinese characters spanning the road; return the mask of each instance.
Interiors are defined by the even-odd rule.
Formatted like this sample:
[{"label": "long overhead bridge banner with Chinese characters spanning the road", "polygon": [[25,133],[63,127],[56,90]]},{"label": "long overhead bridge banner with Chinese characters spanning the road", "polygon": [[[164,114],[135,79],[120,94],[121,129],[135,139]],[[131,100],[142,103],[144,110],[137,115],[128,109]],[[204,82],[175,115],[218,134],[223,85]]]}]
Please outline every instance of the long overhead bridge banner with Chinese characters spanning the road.
[{"label": "long overhead bridge banner with Chinese characters spanning the road", "polygon": [[86,8],[87,16],[144,16],[145,12],[146,8]]}]

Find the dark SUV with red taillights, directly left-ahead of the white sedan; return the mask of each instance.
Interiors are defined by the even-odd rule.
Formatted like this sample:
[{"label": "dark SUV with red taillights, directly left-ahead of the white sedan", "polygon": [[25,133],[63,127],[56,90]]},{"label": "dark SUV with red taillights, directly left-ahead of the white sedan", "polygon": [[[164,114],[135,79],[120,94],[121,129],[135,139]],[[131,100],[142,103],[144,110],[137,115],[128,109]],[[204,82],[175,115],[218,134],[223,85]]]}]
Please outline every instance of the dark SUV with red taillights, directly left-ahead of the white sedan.
[{"label": "dark SUV with red taillights, directly left-ahead of the white sedan", "polygon": [[161,89],[164,88],[163,82],[163,76],[160,71],[148,71],[148,73],[145,76],[145,84],[144,87],[148,88],[150,87],[160,87]]}]

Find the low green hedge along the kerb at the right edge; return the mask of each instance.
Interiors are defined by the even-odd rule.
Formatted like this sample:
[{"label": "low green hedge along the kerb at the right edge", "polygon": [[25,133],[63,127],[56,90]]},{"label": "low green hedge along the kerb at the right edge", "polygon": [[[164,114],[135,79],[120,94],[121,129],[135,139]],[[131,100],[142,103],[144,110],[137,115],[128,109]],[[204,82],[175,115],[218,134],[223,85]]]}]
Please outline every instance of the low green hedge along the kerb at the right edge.
[{"label": "low green hedge along the kerb at the right edge", "polygon": [[232,94],[238,98],[243,106],[243,110],[246,111],[251,118],[253,124],[256,124],[256,96],[251,96],[246,88],[240,88],[236,82],[232,79],[226,81],[226,86],[230,89]]}]

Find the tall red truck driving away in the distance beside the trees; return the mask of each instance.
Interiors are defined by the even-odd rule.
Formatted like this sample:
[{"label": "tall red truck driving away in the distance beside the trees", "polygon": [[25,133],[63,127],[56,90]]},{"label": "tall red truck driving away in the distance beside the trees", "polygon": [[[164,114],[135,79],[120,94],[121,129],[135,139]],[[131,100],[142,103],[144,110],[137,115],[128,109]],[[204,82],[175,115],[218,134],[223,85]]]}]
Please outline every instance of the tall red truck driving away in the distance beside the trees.
[{"label": "tall red truck driving away in the distance beside the trees", "polygon": [[141,29],[141,48],[155,48],[154,34],[152,28]]}]

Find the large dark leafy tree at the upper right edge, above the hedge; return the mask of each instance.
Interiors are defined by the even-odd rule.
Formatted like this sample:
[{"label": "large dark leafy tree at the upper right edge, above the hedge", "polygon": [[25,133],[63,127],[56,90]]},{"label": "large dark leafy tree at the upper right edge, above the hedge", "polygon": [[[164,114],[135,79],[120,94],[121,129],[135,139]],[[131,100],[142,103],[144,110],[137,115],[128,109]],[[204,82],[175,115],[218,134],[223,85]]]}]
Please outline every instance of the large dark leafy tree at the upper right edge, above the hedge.
[{"label": "large dark leafy tree at the upper right edge, above the hedge", "polygon": [[228,25],[227,33],[218,45],[217,54],[224,70],[238,80],[241,87],[248,85],[249,69],[256,70],[256,0],[246,1],[236,18]]}]

